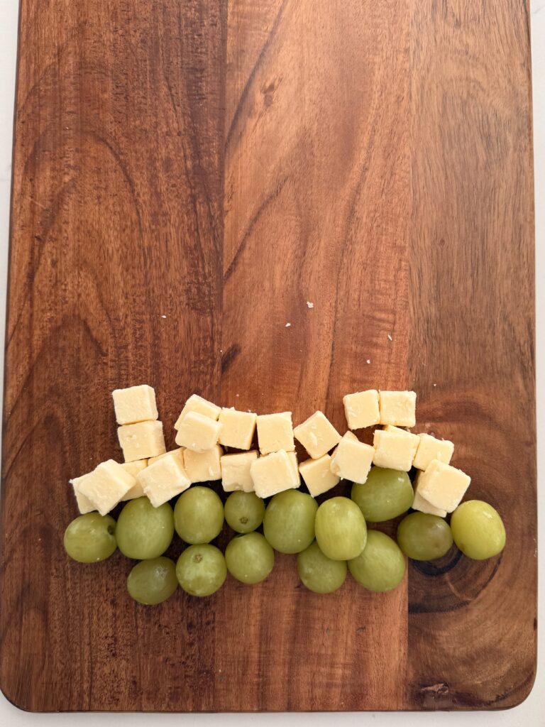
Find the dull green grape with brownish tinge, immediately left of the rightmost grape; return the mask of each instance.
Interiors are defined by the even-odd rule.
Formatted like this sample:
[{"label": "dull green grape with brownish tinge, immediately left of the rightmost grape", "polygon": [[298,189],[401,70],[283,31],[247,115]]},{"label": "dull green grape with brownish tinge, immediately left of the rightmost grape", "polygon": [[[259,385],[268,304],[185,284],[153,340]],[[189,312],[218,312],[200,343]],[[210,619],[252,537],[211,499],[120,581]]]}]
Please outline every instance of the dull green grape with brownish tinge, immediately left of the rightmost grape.
[{"label": "dull green grape with brownish tinge, immediately left of the rightmost grape", "polygon": [[397,526],[397,545],[413,561],[433,561],[451,547],[451,529],[437,515],[411,513]]}]

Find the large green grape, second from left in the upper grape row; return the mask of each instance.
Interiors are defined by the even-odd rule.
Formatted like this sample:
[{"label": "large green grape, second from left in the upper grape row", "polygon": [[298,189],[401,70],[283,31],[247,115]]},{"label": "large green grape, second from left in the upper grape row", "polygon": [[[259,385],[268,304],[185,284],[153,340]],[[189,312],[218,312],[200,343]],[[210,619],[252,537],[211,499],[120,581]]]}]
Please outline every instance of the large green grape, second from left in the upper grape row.
[{"label": "large green grape, second from left in the upper grape row", "polygon": [[147,497],[127,502],[118,517],[116,537],[127,558],[147,561],[163,555],[174,535],[174,518],[168,502],[153,507]]}]

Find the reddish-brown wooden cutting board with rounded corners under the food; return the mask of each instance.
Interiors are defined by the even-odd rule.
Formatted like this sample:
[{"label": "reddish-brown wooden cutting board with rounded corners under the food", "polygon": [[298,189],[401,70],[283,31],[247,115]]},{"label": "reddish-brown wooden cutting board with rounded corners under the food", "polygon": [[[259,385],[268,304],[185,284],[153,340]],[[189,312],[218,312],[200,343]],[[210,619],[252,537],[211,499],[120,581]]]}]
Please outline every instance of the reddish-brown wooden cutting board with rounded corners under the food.
[{"label": "reddish-brown wooden cutting board with rounded corners under the food", "polygon": [[[536,671],[528,2],[21,4],[0,685],[27,710],[502,709]],[[307,306],[307,301],[314,308]],[[291,324],[288,326],[288,324]],[[62,550],[110,390],[323,409],[413,387],[507,547],[393,593],[156,608]],[[220,538],[225,545],[227,534]],[[175,552],[174,552],[175,551]],[[179,546],[172,555],[179,553]]]}]

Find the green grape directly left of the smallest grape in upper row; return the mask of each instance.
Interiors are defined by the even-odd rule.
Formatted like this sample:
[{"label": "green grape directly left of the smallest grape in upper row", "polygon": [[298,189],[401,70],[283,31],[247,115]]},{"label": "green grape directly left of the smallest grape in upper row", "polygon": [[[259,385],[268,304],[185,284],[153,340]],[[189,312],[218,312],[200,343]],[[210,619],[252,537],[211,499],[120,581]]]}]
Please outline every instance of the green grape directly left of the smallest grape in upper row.
[{"label": "green grape directly left of the smallest grape in upper row", "polygon": [[182,492],[174,507],[174,527],[182,540],[192,545],[209,543],[223,526],[223,503],[209,487]]}]

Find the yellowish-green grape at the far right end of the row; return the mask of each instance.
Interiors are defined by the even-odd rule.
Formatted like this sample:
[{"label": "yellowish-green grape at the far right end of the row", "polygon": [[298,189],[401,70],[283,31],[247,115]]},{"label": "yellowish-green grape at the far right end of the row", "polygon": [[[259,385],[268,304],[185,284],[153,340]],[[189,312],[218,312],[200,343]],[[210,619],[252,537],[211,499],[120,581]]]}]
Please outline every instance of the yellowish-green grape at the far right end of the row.
[{"label": "yellowish-green grape at the far right end of the row", "polygon": [[505,526],[498,511],[483,500],[462,502],[451,517],[454,542],[464,555],[484,561],[505,547]]}]

